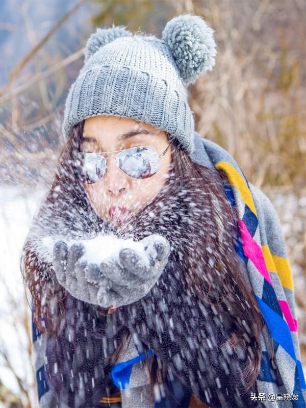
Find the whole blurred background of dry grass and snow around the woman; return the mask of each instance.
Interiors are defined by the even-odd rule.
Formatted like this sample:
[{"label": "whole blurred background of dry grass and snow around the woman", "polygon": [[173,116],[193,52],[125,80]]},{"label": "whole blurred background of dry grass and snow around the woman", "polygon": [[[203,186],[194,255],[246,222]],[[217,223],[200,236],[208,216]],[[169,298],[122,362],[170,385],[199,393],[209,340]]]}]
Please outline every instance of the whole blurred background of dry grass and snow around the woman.
[{"label": "whole blurred background of dry grass and snow around the woman", "polygon": [[305,0],[0,0],[0,407],[38,407],[19,257],[86,40],[113,22],[160,37],[182,13],[215,30],[216,65],[189,87],[196,130],[234,156],[281,219],[306,367]]}]

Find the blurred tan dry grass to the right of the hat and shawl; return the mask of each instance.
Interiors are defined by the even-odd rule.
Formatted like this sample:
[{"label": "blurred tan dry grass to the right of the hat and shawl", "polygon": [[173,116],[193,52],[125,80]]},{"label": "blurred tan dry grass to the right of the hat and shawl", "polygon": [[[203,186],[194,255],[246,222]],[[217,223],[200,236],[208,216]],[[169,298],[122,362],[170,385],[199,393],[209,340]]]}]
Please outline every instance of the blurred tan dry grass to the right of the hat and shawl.
[{"label": "blurred tan dry grass to the right of the hat and shawl", "polygon": [[197,130],[230,151],[258,187],[304,186],[304,1],[193,6],[214,28],[219,51],[212,74],[191,90]]}]

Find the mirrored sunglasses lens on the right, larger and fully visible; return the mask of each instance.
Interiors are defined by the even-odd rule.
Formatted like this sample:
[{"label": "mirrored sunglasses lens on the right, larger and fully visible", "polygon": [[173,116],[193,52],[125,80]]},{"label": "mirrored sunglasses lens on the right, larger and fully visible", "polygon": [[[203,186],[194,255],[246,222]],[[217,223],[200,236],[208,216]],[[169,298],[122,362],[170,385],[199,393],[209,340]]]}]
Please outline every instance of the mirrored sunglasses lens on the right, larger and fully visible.
[{"label": "mirrored sunglasses lens on the right, larger and fully visible", "polygon": [[159,155],[154,147],[133,147],[116,157],[119,168],[135,179],[146,179],[155,174],[159,167]]}]

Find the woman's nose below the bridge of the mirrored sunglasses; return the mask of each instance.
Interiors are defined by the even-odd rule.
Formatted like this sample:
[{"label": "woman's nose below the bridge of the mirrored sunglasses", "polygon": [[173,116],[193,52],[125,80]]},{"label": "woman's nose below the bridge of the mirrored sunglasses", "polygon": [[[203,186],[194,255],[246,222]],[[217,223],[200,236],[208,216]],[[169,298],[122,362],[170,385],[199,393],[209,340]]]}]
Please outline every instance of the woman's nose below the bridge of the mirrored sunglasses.
[{"label": "woman's nose below the bridge of the mirrored sunglasses", "polygon": [[112,158],[107,160],[106,173],[104,175],[107,192],[118,196],[129,189],[127,176],[119,169]]}]

